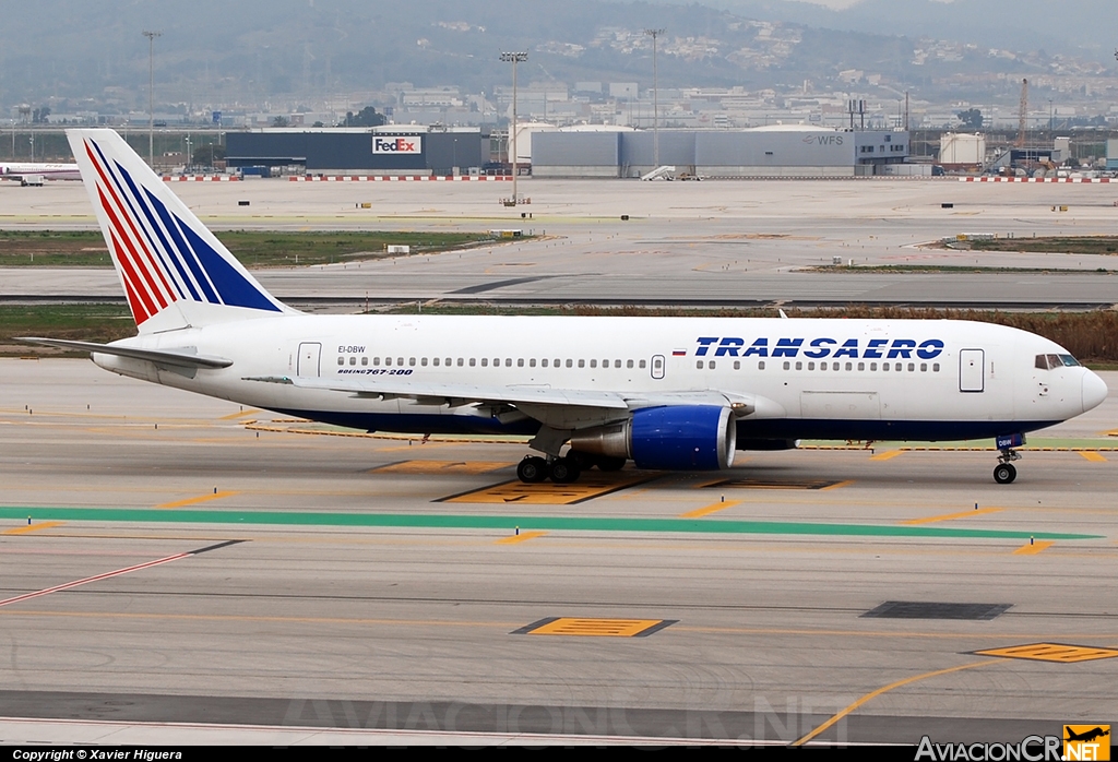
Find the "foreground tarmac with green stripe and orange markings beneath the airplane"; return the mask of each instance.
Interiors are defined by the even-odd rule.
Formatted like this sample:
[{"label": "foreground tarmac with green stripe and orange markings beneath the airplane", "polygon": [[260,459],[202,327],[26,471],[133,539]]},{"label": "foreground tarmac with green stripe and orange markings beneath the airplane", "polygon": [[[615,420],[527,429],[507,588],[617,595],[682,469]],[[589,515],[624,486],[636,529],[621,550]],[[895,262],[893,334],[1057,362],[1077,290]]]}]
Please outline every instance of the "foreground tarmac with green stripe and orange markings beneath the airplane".
[{"label": "foreground tarmac with green stripe and orange markings beneath the airplane", "polygon": [[993,451],[879,444],[527,488],[514,441],[353,436],[0,360],[0,737],[942,743],[1110,722],[1116,419],[1111,399],[1031,436],[1008,486]]}]

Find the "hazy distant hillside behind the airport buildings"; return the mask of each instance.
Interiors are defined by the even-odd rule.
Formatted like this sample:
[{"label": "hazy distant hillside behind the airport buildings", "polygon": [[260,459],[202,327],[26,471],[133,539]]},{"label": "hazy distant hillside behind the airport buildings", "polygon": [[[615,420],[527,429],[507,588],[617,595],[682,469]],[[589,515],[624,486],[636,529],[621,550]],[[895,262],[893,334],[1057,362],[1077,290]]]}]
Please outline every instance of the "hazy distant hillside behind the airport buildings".
[{"label": "hazy distant hillside behind the airport buildings", "polygon": [[[926,39],[881,31],[894,31],[892,27],[907,18],[927,18],[904,26],[919,29],[920,36],[944,27],[945,38],[946,28],[954,26],[955,39],[970,39],[976,29],[997,27],[998,13],[1007,17],[1002,25],[1006,30],[1029,22],[1054,39],[1060,29],[1059,23],[1036,22],[1053,12],[1045,0],[959,0],[949,6],[865,0],[842,12],[777,0],[721,1],[737,12],[701,4],[599,0],[6,3],[0,23],[0,103],[37,105],[53,96],[69,99],[70,109],[79,109],[82,98],[91,98],[91,107],[110,103],[121,109],[144,108],[144,29],[163,32],[155,40],[159,97],[193,104],[311,99],[376,91],[390,82],[492,92],[510,78],[498,55],[519,49],[531,54],[521,68],[522,82],[635,80],[647,87],[651,40],[641,34],[646,27],[667,30],[660,48],[664,87],[760,88],[798,86],[805,79],[841,86],[841,73],[864,69],[880,76],[890,92],[913,89],[935,97],[959,95],[951,77],[960,74],[1004,73],[1015,82],[1053,69],[1054,64],[1043,55],[991,57],[982,46],[930,49]],[[1111,2],[1064,0],[1060,9],[1062,15],[1068,9],[1087,12]],[[958,18],[964,7],[974,18]],[[1006,10],[1011,7],[1021,10],[1011,15]]]}]

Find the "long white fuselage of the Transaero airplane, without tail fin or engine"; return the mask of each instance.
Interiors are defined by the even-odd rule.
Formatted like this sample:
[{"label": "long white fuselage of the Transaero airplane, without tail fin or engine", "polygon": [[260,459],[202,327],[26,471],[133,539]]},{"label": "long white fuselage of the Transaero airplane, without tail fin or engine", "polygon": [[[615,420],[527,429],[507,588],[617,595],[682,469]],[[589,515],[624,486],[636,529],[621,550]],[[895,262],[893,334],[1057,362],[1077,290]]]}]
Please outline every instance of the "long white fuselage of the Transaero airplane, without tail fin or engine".
[{"label": "long white fuselage of the Transaero airplane, without tail fin or engine", "polygon": [[[756,439],[947,440],[1051,426],[1106,394],[1068,356],[1023,331],[956,321],[499,316],[281,316],[138,336],[127,345],[234,360],[189,378],[98,354],[115,372],[367,430],[532,434],[539,421],[489,404],[370,400],[262,378],[659,392],[757,400],[737,421]],[[1074,361],[1071,361],[1074,363]],[[257,380],[252,380],[257,379]]]}]

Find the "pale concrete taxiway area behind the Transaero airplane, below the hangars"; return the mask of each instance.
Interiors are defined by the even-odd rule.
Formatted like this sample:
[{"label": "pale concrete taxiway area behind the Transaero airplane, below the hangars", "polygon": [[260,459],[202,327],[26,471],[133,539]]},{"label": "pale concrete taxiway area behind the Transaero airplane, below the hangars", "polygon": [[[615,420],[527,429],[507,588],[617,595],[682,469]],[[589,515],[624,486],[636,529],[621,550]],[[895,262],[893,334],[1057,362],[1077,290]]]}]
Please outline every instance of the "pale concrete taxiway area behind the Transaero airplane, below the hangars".
[{"label": "pale concrete taxiway area behind the Transaero airplane, below the hangars", "polygon": [[[1106,184],[937,181],[530,180],[506,209],[504,183],[173,183],[215,230],[509,230],[537,236],[470,251],[272,269],[293,303],[891,305],[1090,308],[1118,304],[1112,256],[982,254],[921,245],[960,234],[1111,235]],[[1118,188],[1118,187],[1116,187]],[[0,229],[93,228],[84,189],[0,185]],[[249,207],[238,207],[244,200]],[[369,203],[370,209],[360,208]],[[944,204],[951,204],[944,208]],[[1060,211],[1067,207],[1068,211]],[[523,215],[524,217],[521,217]],[[627,215],[628,220],[622,220]],[[1027,272],[835,272],[948,265]],[[824,272],[807,272],[808,268]],[[1098,272],[1103,270],[1103,272]],[[9,268],[0,298],[120,298],[110,270]]]}]

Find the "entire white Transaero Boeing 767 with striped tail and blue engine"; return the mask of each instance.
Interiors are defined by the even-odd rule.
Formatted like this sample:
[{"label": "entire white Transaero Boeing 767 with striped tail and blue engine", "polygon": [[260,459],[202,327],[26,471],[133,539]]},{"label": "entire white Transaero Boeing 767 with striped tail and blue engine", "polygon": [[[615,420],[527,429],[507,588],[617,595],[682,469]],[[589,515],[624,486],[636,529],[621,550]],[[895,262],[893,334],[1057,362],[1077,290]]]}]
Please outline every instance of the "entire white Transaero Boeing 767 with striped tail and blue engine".
[{"label": "entire white Transaero Boeing 767 with striped tail and blue engine", "polygon": [[[961,321],[305,315],[268,294],[108,130],[74,155],[139,335],[89,351],[115,373],[316,421],[530,435],[524,482],[580,470],[724,469],[798,439],[996,438],[1099,404],[1058,344]],[[567,448],[563,454],[563,448]]]}]

